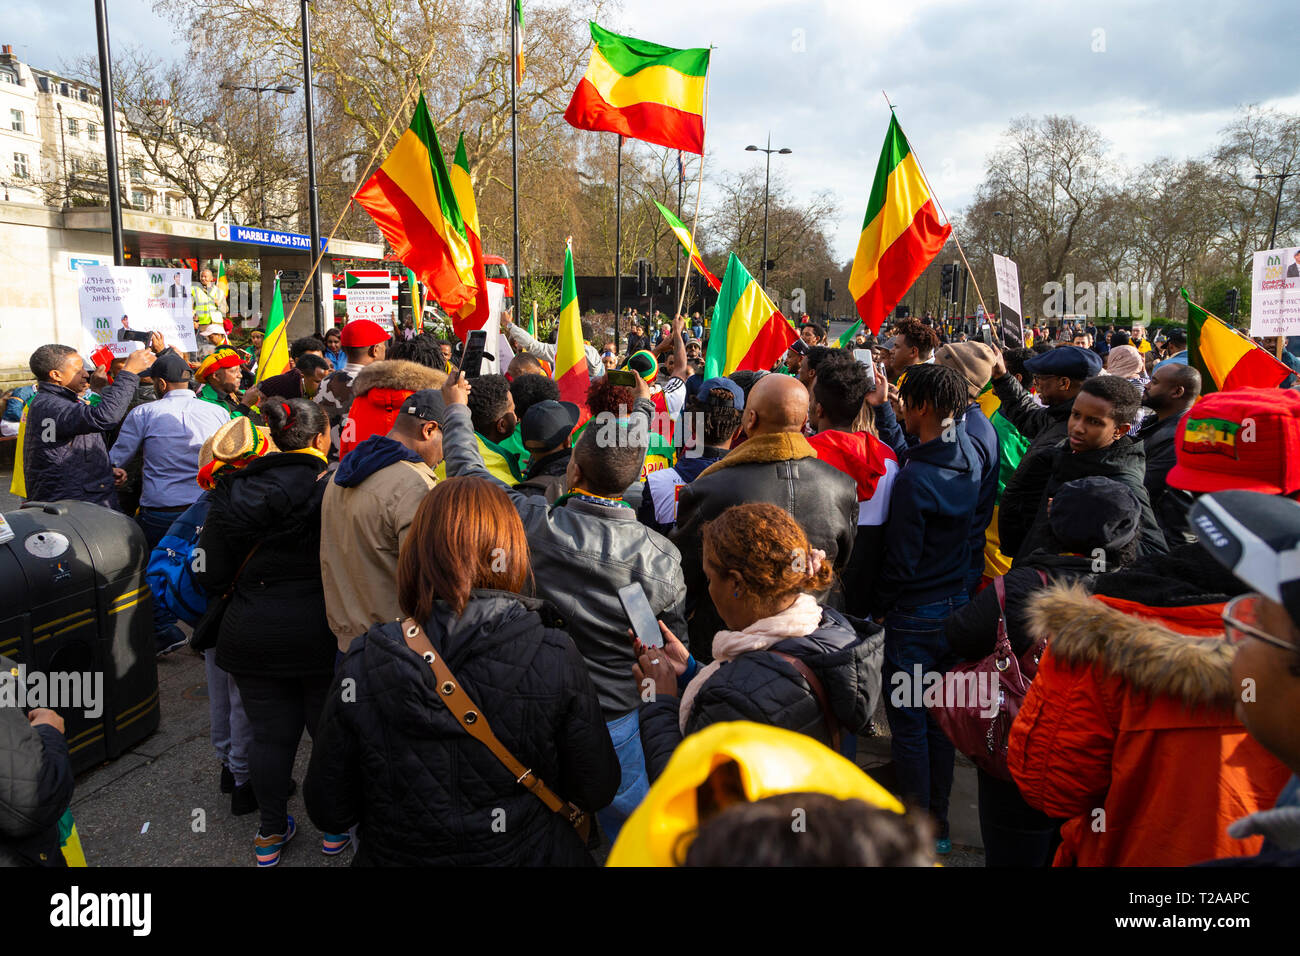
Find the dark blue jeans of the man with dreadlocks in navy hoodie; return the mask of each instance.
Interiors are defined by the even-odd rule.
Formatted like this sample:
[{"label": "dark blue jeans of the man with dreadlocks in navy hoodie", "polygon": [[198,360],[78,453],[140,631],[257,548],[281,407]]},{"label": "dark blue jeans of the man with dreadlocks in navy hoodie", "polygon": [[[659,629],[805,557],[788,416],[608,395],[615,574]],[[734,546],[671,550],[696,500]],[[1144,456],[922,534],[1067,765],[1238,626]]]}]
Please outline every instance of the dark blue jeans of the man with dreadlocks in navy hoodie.
[{"label": "dark blue jeans of the man with dreadlocks in navy hoodie", "polygon": [[[885,615],[884,692],[890,750],[902,799],[930,810],[939,838],[948,836],[948,799],[953,791],[956,750],[922,704],[920,674],[942,674],[948,641],[944,622],[967,602],[966,592],[919,607],[894,607]],[[896,682],[904,674],[906,680]],[[927,682],[928,683],[928,682]],[[896,700],[897,698],[897,700]]]}]

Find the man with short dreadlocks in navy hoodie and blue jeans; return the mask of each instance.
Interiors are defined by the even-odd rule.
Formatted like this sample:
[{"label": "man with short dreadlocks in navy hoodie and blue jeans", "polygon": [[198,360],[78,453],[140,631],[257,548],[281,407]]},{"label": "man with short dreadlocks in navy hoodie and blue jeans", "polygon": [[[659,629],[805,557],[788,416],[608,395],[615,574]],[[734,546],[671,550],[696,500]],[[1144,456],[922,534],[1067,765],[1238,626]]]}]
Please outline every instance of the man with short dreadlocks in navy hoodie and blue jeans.
[{"label": "man with short dreadlocks in navy hoodie and blue jeans", "polygon": [[970,393],[958,372],[913,365],[898,398],[916,444],[898,457],[874,618],[885,624],[885,713],[898,790],[930,810],[937,826],[936,849],[948,853],[954,752],[924,706],[920,675],[946,670],[944,622],[967,600],[980,459],[961,421]]}]

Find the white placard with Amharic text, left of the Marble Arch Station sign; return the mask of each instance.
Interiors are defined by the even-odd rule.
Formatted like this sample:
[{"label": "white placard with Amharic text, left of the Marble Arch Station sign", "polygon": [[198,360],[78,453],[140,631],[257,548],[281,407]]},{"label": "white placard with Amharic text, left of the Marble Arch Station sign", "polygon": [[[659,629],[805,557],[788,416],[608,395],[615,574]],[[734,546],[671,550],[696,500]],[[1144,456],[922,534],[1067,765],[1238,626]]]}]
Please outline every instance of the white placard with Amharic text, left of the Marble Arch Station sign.
[{"label": "white placard with Amharic text, left of the Marble Arch Station sign", "polygon": [[161,332],[178,351],[196,350],[188,269],[143,265],[83,265],[77,290],[82,345],[87,354],[108,346],[114,358],[143,349],[122,333]]}]

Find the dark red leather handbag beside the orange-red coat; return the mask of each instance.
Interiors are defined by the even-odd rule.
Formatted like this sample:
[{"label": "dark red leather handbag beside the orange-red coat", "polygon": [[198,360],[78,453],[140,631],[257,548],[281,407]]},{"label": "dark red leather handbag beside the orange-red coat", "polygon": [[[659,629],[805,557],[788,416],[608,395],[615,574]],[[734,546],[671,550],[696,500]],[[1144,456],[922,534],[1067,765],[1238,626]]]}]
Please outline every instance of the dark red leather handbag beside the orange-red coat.
[{"label": "dark red leather handbag beside the orange-red coat", "polygon": [[[1039,578],[1048,583],[1041,570]],[[959,663],[944,674],[942,698],[930,708],[953,747],[971,758],[980,770],[1010,780],[1006,769],[1006,741],[1011,722],[1024,702],[1030,682],[1039,672],[1045,640],[1039,640],[1019,657],[1006,636],[1006,583],[993,579],[997,593],[997,643],[982,661]],[[996,710],[994,710],[996,706]]]}]

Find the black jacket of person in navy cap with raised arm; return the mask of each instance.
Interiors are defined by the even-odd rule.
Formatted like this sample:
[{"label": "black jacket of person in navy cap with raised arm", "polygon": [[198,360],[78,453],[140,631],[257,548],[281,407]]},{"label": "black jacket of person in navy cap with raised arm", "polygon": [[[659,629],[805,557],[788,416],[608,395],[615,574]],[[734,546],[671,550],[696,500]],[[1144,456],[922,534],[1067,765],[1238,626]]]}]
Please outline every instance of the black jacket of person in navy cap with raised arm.
[{"label": "black jacket of person in navy cap with raised arm", "polygon": [[1020,553],[1043,497],[1041,471],[1037,471],[1043,462],[1037,459],[1050,457],[1057,444],[1067,437],[1074,399],[1044,408],[1010,375],[994,378],[993,392],[1001,402],[998,411],[1002,416],[1030,440],[1030,446],[1008,479],[997,506],[998,550],[1015,555]]}]

